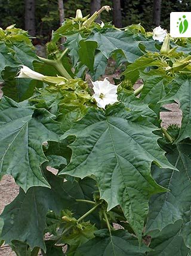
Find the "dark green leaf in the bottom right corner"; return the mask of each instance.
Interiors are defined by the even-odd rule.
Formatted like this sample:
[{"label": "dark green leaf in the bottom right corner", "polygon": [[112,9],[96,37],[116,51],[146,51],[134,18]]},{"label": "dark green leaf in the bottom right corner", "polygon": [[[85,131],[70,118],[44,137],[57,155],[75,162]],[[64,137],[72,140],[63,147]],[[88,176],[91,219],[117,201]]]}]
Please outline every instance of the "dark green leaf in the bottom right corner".
[{"label": "dark green leaf in the bottom right corner", "polygon": [[168,225],[161,232],[151,233],[152,240],[148,256],[187,256],[189,248],[184,244],[183,237],[180,236],[179,230],[181,221]]}]

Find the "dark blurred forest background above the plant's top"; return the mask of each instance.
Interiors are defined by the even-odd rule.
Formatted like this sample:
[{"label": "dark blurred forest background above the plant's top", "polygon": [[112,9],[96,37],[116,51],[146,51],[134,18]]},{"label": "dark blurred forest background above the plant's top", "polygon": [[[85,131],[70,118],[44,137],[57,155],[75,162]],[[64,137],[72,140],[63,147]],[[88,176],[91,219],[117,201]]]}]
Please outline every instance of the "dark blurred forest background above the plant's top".
[{"label": "dark blurred forest background above the plant's top", "polygon": [[171,11],[190,11],[191,0],[0,0],[0,27],[16,24],[45,43],[64,17],[75,17],[77,9],[83,16],[110,5],[100,20],[113,21],[116,27],[141,23],[148,31],[161,25],[168,29]]}]

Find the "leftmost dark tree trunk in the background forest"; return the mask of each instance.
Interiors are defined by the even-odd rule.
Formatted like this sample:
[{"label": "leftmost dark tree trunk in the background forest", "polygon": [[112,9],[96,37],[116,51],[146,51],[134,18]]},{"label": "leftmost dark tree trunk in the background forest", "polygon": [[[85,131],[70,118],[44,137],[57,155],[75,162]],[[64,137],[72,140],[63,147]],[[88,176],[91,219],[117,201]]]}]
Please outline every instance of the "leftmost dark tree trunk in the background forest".
[{"label": "leftmost dark tree trunk in the background forest", "polygon": [[35,36],[35,0],[25,0],[24,29]]}]

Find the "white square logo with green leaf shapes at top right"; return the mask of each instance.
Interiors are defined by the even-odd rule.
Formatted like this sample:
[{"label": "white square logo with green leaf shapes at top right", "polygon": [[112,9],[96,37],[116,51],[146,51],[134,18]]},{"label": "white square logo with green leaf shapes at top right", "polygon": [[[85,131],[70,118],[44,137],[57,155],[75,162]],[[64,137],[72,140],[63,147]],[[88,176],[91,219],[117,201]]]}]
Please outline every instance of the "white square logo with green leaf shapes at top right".
[{"label": "white square logo with green leaf shapes at top right", "polygon": [[191,12],[175,12],[170,16],[172,37],[191,37]]}]

